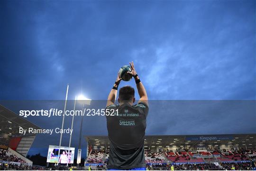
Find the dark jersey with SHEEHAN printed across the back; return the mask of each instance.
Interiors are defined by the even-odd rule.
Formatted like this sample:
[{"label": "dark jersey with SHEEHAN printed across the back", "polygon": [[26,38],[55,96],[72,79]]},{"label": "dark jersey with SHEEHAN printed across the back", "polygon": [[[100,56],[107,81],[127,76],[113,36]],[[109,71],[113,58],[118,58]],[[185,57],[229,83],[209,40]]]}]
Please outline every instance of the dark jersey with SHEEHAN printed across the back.
[{"label": "dark jersey with SHEEHAN printed across the back", "polygon": [[110,105],[106,109],[115,110],[115,116],[106,116],[110,139],[108,168],[145,167],[144,139],[148,114],[147,104],[140,102],[131,106],[125,103],[120,106]]}]

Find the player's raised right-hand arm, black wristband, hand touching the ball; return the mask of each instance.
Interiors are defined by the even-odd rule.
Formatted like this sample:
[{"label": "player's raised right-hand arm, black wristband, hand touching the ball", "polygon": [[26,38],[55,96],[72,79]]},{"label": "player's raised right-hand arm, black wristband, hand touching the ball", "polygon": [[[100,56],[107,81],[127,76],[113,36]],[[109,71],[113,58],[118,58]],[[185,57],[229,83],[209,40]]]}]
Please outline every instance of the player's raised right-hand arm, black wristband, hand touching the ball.
[{"label": "player's raised right-hand arm, black wristband, hand touching the ball", "polygon": [[134,63],[131,62],[130,65],[131,65],[132,71],[128,72],[128,73],[131,74],[135,79],[137,90],[138,90],[139,97],[140,97],[138,103],[143,101],[144,103],[146,103],[148,105],[146,89],[145,89],[144,85],[142,84],[142,82],[139,80],[139,77],[138,77],[137,72],[134,67]]}]

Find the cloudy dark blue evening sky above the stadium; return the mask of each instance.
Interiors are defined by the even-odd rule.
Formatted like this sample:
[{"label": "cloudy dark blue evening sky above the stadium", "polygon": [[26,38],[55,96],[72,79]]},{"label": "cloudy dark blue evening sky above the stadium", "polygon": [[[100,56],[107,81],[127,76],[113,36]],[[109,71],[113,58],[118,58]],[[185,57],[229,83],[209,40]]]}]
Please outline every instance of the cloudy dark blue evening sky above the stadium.
[{"label": "cloudy dark blue evening sky above the stadium", "polygon": [[[254,0],[2,0],[0,18],[1,100],[63,100],[68,83],[68,99],[83,93],[104,100],[129,61],[150,100],[256,99]],[[120,87],[126,84],[135,86],[129,81]],[[219,112],[213,125],[187,131],[192,123],[210,122],[213,114],[196,112],[187,119],[186,112],[177,117],[164,111],[149,113],[147,135],[256,133],[253,112],[248,121],[239,112]],[[94,129],[85,119],[83,135],[107,135],[105,118],[93,119]],[[47,119],[28,120],[53,126]],[[230,120],[240,124],[227,126]],[[59,118],[53,122],[60,126]],[[38,135],[30,154],[58,142],[42,144],[45,139]]]}]

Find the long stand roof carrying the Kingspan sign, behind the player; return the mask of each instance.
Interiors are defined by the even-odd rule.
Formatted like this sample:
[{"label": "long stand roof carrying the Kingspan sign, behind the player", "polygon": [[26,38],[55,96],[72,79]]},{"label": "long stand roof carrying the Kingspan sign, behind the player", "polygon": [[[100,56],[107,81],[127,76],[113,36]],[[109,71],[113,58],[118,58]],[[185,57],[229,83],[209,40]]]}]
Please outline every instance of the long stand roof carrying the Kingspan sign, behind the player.
[{"label": "long stand roof carrying the Kingspan sign, behind the player", "polygon": [[[91,146],[109,146],[108,136],[84,136]],[[191,148],[197,146],[238,146],[239,148],[256,148],[256,134],[232,135],[146,135],[145,147]]]}]

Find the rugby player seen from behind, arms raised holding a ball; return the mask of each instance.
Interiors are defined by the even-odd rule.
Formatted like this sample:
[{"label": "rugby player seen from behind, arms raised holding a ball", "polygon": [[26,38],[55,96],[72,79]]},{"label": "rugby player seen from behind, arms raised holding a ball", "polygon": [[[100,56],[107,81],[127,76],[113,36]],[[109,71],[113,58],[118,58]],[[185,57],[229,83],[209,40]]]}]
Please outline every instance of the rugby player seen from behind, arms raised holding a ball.
[{"label": "rugby player seen from behind, arms raised holding a ball", "polygon": [[[106,111],[115,111],[114,116],[106,115],[107,129],[110,140],[110,155],[108,170],[146,170],[144,156],[144,139],[148,101],[146,90],[140,81],[134,67],[130,63],[131,72],[135,79],[140,99],[136,105],[135,90],[131,86],[124,86],[119,90],[118,102],[115,100],[121,78],[118,77],[108,97]],[[110,113],[112,113],[110,111]]]}]

